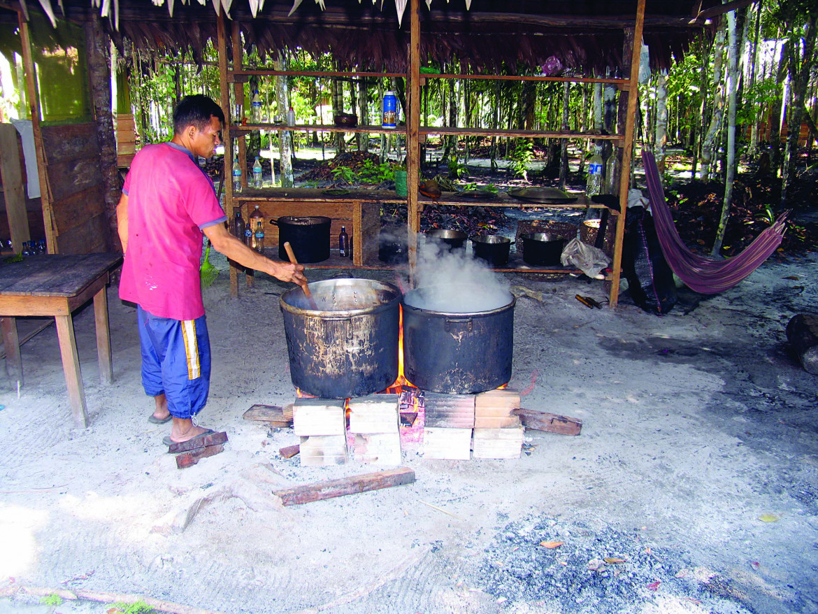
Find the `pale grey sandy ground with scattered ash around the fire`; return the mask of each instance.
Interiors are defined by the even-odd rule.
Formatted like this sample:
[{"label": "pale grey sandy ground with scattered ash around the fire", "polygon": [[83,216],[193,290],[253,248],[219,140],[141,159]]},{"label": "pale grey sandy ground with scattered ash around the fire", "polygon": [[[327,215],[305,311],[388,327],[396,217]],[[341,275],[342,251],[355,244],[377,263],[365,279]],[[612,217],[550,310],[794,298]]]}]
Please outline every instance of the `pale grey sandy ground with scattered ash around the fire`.
[{"label": "pale grey sandy ground with scattered ash around the fire", "polygon": [[[22,348],[19,398],[0,381],[0,589],[218,612],[818,612],[818,379],[784,334],[815,308],[816,260],[768,262],[663,318],[574,299],[604,299],[600,282],[507,276],[542,293],[517,302],[510,386],[533,384],[524,406],[581,418],[582,435],[528,431],[519,460],[404,454],[414,484],[290,508],[271,490],[385,467],[300,467],[277,453],[291,430],[242,420],[294,398],[287,286],[261,276],[232,300],[222,273],[205,291],[201,422],[230,441],[183,471],[169,426],[146,421],[135,310],[111,287],[112,386],[92,309],[74,318],[88,429],[70,423],[53,326]],[[0,612],[110,607],[39,599],[20,590]]]}]

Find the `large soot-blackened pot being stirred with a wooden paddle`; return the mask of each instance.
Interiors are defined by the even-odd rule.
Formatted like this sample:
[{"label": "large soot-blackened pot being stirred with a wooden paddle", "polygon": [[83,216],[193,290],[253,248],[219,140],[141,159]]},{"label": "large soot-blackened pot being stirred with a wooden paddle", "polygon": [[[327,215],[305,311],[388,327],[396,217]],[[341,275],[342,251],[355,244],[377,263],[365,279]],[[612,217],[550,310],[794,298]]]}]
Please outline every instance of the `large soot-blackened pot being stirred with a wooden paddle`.
[{"label": "large soot-blackened pot being stirred with a wooden paddle", "polygon": [[[308,395],[347,399],[383,391],[398,377],[401,292],[369,279],[309,284],[281,295],[290,377]],[[314,309],[317,307],[317,309]]]}]

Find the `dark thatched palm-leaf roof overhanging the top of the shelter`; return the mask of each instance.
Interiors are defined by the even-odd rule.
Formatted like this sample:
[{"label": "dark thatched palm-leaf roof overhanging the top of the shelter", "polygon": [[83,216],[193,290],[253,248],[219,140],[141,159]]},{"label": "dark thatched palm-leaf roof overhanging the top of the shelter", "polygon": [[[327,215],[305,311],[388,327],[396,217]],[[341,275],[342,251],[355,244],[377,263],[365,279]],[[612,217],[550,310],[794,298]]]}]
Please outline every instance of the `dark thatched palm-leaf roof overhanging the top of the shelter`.
[{"label": "dark thatched palm-leaf roof overhanging the top of the shelter", "polygon": [[[43,7],[51,7],[50,1],[39,0]],[[651,65],[669,67],[712,18],[749,1],[647,0],[644,39]],[[0,6],[16,2],[25,4],[0,0]],[[101,13],[117,43],[128,38],[137,49],[190,49],[200,58],[208,39],[216,37],[221,6],[240,25],[247,47],[254,45],[262,56],[301,47],[312,54],[331,52],[340,68],[407,70],[409,19],[403,8],[409,0],[296,0],[295,9],[293,0],[91,2],[96,6],[61,0],[56,18],[63,12],[70,20]],[[636,0],[422,0],[420,57],[458,59],[471,70],[496,72],[533,70],[555,56],[583,74],[615,73],[622,67],[623,28],[635,15]]]}]

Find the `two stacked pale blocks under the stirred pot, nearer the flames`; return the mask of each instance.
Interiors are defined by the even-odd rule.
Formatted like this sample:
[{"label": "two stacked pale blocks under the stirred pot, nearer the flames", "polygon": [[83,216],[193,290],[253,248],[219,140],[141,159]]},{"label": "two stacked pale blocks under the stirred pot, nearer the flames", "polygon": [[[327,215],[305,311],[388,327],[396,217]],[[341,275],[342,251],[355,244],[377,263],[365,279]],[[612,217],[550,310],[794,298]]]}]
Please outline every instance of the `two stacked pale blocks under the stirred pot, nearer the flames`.
[{"label": "two stacked pale blocks under the stirred pot, nearer the flames", "polygon": [[399,465],[398,395],[369,395],[349,400],[349,441],[361,463]]}]

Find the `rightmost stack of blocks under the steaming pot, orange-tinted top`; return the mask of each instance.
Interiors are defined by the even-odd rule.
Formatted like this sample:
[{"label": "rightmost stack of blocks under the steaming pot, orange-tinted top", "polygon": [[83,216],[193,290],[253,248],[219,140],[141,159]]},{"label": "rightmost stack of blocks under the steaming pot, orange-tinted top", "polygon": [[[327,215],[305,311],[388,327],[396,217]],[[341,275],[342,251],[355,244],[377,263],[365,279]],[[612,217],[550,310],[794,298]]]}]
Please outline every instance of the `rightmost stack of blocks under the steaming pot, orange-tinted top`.
[{"label": "rightmost stack of blocks under the steaming pot, orange-tinted top", "polygon": [[474,397],[474,458],[519,458],[524,428],[519,416],[519,392],[489,391]]}]

